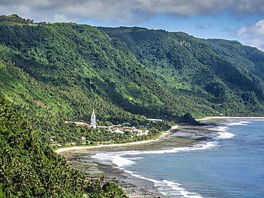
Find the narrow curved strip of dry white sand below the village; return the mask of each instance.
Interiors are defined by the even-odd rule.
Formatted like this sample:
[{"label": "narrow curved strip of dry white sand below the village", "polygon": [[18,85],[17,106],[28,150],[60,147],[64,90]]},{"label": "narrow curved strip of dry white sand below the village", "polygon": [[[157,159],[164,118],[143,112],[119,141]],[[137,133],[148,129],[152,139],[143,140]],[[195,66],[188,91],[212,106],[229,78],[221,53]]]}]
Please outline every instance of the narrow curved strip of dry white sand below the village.
[{"label": "narrow curved strip of dry white sand below the village", "polygon": [[145,141],[140,141],[140,142],[128,142],[128,143],[123,143],[123,144],[110,144],[110,145],[97,145],[97,146],[87,146],[87,147],[63,147],[59,148],[58,150],[55,150],[54,152],[56,153],[61,153],[61,152],[66,152],[70,150],[94,150],[94,149],[101,149],[101,148],[112,148],[112,147],[129,147],[133,145],[143,145],[143,144],[148,144],[152,142],[156,142],[158,140],[161,140],[163,137],[166,137],[172,133],[172,130],[176,130],[178,128],[178,125],[171,127],[170,130],[167,130],[166,132],[163,132],[162,135],[156,137],[155,139],[151,140],[145,140]]}]

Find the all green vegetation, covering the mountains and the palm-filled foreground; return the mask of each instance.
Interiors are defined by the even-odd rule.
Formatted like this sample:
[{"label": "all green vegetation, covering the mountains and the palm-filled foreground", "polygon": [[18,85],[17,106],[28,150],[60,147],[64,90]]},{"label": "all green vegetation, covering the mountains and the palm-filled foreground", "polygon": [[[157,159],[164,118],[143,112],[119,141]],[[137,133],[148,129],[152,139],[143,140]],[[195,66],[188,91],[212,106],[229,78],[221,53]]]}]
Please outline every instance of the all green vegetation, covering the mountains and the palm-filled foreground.
[{"label": "all green vegetation, covering the mountains and the palm-filled foreground", "polygon": [[[130,142],[191,115],[263,116],[263,64],[237,41],[0,16],[0,197],[126,197],[86,182],[43,142]],[[149,135],[65,123],[89,122],[93,109],[97,125],[147,125]]]}]

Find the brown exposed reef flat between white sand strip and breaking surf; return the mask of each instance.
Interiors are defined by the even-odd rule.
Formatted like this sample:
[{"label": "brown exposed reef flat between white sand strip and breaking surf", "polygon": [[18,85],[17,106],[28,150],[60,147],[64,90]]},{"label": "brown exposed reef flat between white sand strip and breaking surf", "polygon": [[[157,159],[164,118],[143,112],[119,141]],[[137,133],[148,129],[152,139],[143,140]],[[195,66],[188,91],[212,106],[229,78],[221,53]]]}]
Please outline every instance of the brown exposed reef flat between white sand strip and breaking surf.
[{"label": "brown exposed reef flat between white sand strip and breaking surf", "polygon": [[[216,120],[210,122],[210,127],[214,125]],[[219,120],[218,120],[219,121]],[[222,123],[224,120],[220,120]],[[208,123],[208,121],[205,121]],[[91,156],[96,155],[96,152],[115,152],[121,150],[160,150],[168,147],[186,147],[192,145],[200,140],[210,138],[215,134],[206,125],[201,126],[189,126],[180,125],[174,132],[183,131],[179,137],[173,137],[172,140],[166,140],[166,137],[171,134],[167,133],[163,138],[159,138],[156,141],[145,142],[144,144],[133,144],[133,145],[118,145],[118,147],[89,147],[84,150],[71,150],[61,151],[60,154],[66,157],[69,165],[86,173],[88,179],[99,179],[102,175],[106,177],[105,181],[116,182],[118,187],[121,187],[124,192],[131,198],[139,197],[161,197],[169,198],[164,196],[161,192],[158,192],[158,187],[153,186],[153,182],[133,177],[131,174],[123,172],[116,167],[108,165],[102,165]]]}]

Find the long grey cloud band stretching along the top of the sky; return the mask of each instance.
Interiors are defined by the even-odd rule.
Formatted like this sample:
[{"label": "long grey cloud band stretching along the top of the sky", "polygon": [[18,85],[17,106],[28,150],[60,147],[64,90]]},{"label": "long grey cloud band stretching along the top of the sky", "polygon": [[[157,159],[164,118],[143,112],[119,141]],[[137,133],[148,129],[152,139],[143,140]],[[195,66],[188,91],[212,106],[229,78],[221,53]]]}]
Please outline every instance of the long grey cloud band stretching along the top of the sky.
[{"label": "long grey cloud band stretching along the top of the sky", "polygon": [[95,19],[123,24],[141,22],[157,14],[206,16],[226,9],[241,16],[264,13],[263,0],[0,0],[0,7],[5,10],[3,14],[19,14],[35,21],[53,22],[64,15],[71,21]]}]

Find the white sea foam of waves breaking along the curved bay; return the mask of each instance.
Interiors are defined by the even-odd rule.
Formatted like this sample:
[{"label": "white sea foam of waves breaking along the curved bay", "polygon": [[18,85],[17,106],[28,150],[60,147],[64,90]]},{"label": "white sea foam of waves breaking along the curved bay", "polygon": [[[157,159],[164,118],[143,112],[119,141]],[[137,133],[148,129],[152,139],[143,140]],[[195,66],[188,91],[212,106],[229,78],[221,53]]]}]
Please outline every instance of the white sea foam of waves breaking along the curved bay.
[{"label": "white sea foam of waves breaking along the curved bay", "polygon": [[[232,123],[232,125],[245,125],[247,124],[245,121],[243,123]],[[227,139],[233,137],[233,133],[228,132],[229,127],[220,126],[214,127],[213,130],[218,131],[218,136],[213,137],[212,140],[199,142],[191,147],[173,147],[167,150],[128,150],[128,151],[118,151],[118,152],[98,152],[96,155],[92,157],[98,160],[99,162],[103,162],[105,164],[115,165],[117,168],[131,174],[133,177],[138,177],[140,179],[145,179],[154,183],[154,186],[158,187],[158,191],[164,194],[165,196],[176,196],[176,197],[187,197],[187,198],[202,198],[200,194],[196,192],[188,192],[185,188],[176,182],[170,182],[167,180],[158,181],[156,179],[150,179],[147,177],[143,177],[134,172],[128,171],[126,167],[129,167],[136,163],[136,160],[141,160],[144,157],[140,157],[141,155],[148,154],[165,154],[165,153],[177,153],[177,152],[193,152],[195,150],[208,150],[218,145],[218,140]],[[136,157],[138,156],[138,157]]]}]

